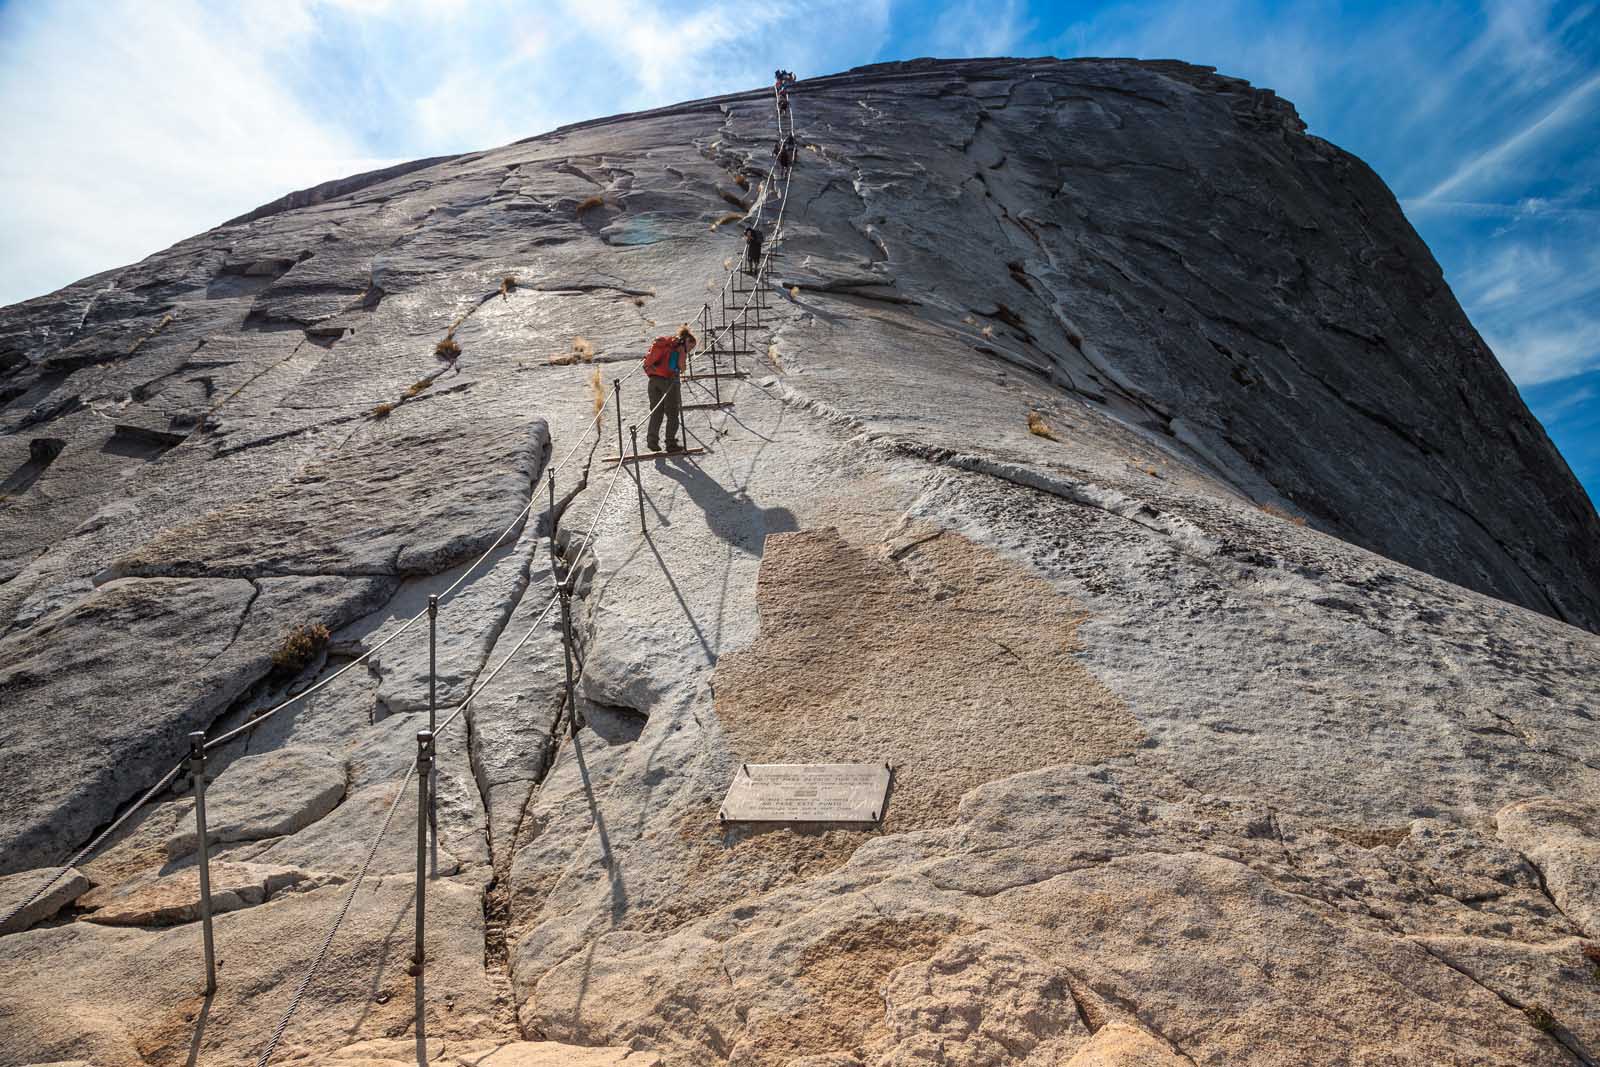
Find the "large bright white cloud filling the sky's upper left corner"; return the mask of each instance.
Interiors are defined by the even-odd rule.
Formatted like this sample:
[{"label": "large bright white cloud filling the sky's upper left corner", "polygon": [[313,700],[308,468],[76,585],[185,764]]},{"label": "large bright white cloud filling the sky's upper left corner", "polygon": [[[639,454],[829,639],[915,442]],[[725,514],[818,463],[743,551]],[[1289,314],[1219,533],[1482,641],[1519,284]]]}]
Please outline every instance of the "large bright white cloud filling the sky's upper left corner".
[{"label": "large bright white cloud filling the sky's upper left corner", "polygon": [[[381,165],[190,3],[10,8],[0,304],[139,259],[290,189]],[[202,222],[203,221],[203,222]]]}]

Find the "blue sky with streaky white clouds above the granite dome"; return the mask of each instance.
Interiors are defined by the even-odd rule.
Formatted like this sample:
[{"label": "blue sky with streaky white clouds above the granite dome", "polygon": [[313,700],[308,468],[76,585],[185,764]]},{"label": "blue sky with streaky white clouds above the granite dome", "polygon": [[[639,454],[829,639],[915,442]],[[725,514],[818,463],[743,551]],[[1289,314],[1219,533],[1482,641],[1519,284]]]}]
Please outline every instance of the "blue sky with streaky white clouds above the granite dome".
[{"label": "blue sky with streaky white clouds above the granite dome", "polygon": [[1389,182],[1600,499],[1600,3],[0,2],[0,304],[328,178],[912,56],[1178,58]]}]

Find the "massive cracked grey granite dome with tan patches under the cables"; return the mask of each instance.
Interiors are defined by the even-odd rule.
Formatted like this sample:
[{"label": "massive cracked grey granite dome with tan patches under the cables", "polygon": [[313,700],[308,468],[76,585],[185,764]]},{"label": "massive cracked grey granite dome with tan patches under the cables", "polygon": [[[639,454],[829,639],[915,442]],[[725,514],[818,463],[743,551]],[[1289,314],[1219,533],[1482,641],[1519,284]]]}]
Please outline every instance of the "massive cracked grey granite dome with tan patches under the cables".
[{"label": "massive cracked grey granite dome with tan patches under the cables", "polygon": [[[274,1062],[1595,1062],[1600,520],[1379,179],[1176,62],[803,82],[747,376],[635,490],[773,118],[0,310],[0,909],[317,686],[210,757],[216,997],[179,776],[0,936],[0,1062],[256,1062],[341,915]],[[720,825],[741,761],[894,789]]]}]

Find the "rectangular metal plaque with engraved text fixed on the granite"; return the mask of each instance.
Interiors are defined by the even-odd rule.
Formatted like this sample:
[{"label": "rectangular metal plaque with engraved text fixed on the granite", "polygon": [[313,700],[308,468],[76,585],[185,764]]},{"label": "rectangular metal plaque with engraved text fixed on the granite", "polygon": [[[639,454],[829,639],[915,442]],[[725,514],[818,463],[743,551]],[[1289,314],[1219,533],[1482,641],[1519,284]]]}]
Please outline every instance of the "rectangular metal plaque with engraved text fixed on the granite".
[{"label": "rectangular metal plaque with engraved text fixed on the granite", "polygon": [[877,822],[888,763],[744,763],[728,785],[723,822]]}]

